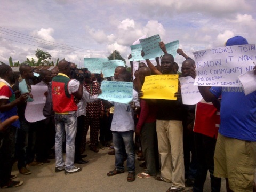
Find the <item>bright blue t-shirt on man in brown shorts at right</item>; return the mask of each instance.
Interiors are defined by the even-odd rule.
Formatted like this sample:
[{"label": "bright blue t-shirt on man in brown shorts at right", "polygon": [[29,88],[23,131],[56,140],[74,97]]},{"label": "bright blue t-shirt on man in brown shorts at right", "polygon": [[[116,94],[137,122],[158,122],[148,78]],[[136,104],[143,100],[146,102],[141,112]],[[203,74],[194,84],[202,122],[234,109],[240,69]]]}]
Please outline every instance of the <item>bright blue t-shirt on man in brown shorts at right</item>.
[{"label": "bright blue t-shirt on man in brown shorts at right", "polygon": [[219,98],[219,133],[230,138],[256,141],[256,91],[245,95],[243,87],[212,87],[211,93]]}]

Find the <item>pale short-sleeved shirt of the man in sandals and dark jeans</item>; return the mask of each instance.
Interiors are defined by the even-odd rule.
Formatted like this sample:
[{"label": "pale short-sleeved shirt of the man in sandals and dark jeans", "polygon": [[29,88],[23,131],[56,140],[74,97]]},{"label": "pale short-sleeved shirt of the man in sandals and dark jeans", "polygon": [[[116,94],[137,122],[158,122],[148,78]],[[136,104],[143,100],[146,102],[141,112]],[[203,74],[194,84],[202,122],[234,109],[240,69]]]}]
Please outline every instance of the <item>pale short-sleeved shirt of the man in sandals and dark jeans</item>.
[{"label": "pale short-sleeved shirt of the man in sandals and dark jeans", "polygon": [[[138,93],[133,90],[133,99],[135,105],[140,106]],[[110,102],[115,106],[111,131],[130,131],[134,130],[133,110],[129,104]]]}]

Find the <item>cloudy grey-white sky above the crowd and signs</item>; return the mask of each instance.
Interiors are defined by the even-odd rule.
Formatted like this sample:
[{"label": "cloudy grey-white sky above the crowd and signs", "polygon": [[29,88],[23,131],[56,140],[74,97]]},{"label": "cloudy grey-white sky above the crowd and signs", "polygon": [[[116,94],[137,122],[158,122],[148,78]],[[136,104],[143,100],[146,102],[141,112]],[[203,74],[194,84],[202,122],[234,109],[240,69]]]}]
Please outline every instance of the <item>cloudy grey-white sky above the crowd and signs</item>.
[{"label": "cloudy grey-white sky above the crowd and signs", "polygon": [[127,60],[130,45],[145,34],[179,40],[191,57],[235,35],[254,44],[255,6],[255,0],[3,0],[0,61],[23,62],[37,48],[80,67],[84,57],[106,58],[113,50]]}]

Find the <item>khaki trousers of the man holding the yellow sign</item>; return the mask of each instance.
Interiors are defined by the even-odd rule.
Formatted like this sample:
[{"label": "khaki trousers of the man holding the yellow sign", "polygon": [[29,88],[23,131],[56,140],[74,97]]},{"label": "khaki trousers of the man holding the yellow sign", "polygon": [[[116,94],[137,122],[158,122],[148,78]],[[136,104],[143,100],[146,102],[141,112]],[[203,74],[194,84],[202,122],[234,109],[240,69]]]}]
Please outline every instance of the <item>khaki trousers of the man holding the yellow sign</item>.
[{"label": "khaki trousers of the man holding the yellow sign", "polygon": [[185,188],[182,121],[157,120],[156,132],[161,158],[161,176],[172,187]]}]

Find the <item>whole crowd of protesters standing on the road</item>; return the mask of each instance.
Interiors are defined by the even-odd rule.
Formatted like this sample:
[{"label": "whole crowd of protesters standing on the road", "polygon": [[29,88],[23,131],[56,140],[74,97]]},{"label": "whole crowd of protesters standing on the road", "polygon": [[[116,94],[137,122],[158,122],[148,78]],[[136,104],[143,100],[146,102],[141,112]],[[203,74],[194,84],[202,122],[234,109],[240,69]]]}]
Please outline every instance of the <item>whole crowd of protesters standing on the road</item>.
[{"label": "whole crowd of protesters standing on the road", "polygon": [[[248,44],[241,36],[227,40],[225,46]],[[150,60],[131,64],[131,72],[119,66],[114,76],[105,80],[133,81],[130,104],[98,98],[102,74],[77,69],[75,63],[62,60],[56,69],[37,70],[21,64],[20,77],[14,85],[12,68],[0,65],[0,187],[22,185],[13,180],[12,166],[17,162],[20,174],[31,174],[29,166],[39,166],[55,159],[55,172],[72,174],[82,171],[75,164],[89,163],[84,158],[86,144],[99,152],[99,140],[114,150],[115,169],[107,173],[124,173],[127,181],[155,178],[169,182],[167,191],[204,191],[207,172],[211,190],[220,191],[221,178],[227,191],[253,191],[256,168],[256,92],[245,96],[243,90],[231,92],[222,87],[198,86],[203,99],[197,105],[182,103],[180,86],[177,100],[141,99],[146,76],[177,74],[178,64],[164,52],[157,66]],[[185,58],[181,77],[195,78],[195,61],[181,49]],[[143,56],[142,51],[142,56]],[[131,55],[129,56],[131,58]],[[134,71],[134,78],[132,77]],[[44,120],[30,123],[25,117],[28,102],[33,102],[31,85],[47,86]],[[157,90],[156,90],[157,91]],[[90,127],[90,140],[86,140]],[[135,134],[134,134],[135,132]],[[100,135],[99,135],[100,133]],[[135,174],[134,137],[139,138],[140,166],[146,171]],[[136,139],[137,140],[137,139]],[[65,158],[63,153],[66,153]]]}]

